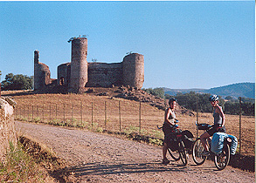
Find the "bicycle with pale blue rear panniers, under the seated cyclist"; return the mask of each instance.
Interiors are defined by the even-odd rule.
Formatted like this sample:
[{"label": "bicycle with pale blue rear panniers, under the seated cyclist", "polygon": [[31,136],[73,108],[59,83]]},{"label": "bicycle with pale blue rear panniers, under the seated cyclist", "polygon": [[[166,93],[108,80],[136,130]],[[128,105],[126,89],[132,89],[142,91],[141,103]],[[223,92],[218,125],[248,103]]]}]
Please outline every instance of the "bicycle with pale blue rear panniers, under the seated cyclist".
[{"label": "bicycle with pale blue rear panniers, under the seated cyclist", "polygon": [[[207,131],[211,128],[211,125],[197,124],[197,121],[196,121],[196,125],[198,130]],[[211,149],[211,138],[206,139],[206,142],[208,143]],[[210,153],[210,157],[214,158],[214,164],[218,168],[218,170],[225,169],[225,166],[229,164],[230,156],[231,156],[231,152],[230,152],[231,143],[232,143],[232,139],[226,138],[224,140],[224,146],[221,153],[218,153],[218,154],[213,152]],[[204,152],[204,146],[200,138],[197,138],[192,147],[192,158],[197,165],[204,164],[204,161],[207,158],[207,156],[202,155],[203,152]]]}]

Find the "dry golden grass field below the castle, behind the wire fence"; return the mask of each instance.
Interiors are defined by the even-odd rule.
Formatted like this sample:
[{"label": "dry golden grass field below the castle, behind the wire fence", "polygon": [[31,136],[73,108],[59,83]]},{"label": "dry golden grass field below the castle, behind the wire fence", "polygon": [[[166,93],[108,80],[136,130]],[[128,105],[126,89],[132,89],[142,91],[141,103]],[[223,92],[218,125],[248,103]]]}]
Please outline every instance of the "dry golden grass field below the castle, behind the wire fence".
[{"label": "dry golden grass field below the castle, behind the wire fence", "polygon": [[[15,91],[12,91],[14,94]],[[163,124],[162,110],[156,107],[141,105],[140,103],[123,98],[109,98],[106,96],[92,96],[87,94],[28,94],[14,95],[17,102],[16,118],[28,121],[40,121],[55,125],[63,124],[111,131],[137,131],[144,134],[163,138],[163,132],[157,130],[156,125]],[[10,94],[3,91],[2,94]],[[93,106],[93,110],[92,110]],[[195,121],[197,117],[177,114],[180,128],[190,130],[197,136]],[[211,113],[199,113],[199,123],[212,123]],[[225,126],[227,133],[239,139],[239,116],[226,115]],[[241,153],[254,156],[255,146],[255,118],[242,117]],[[201,131],[199,134],[202,133]]]}]

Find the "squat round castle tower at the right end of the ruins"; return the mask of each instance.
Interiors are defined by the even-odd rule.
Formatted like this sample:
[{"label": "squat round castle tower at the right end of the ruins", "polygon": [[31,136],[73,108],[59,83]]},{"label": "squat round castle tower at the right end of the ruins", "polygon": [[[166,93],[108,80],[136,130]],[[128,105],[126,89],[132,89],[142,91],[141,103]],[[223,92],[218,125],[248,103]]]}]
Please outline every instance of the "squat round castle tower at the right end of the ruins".
[{"label": "squat round castle tower at the right end of the ruins", "polygon": [[123,58],[122,61],[123,85],[142,88],[144,82],[144,56],[132,53]]}]

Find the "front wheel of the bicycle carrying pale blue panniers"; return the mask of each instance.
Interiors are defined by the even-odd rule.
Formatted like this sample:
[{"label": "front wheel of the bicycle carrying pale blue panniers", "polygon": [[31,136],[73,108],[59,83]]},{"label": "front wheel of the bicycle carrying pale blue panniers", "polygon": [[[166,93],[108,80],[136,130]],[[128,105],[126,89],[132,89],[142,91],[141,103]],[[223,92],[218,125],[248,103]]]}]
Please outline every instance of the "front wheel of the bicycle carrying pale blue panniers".
[{"label": "front wheel of the bicycle carrying pale blue panniers", "polygon": [[202,156],[202,153],[204,152],[204,146],[200,139],[197,139],[195,143],[193,144],[192,148],[192,157],[194,162],[199,166],[202,165],[207,158],[206,156]]}]

